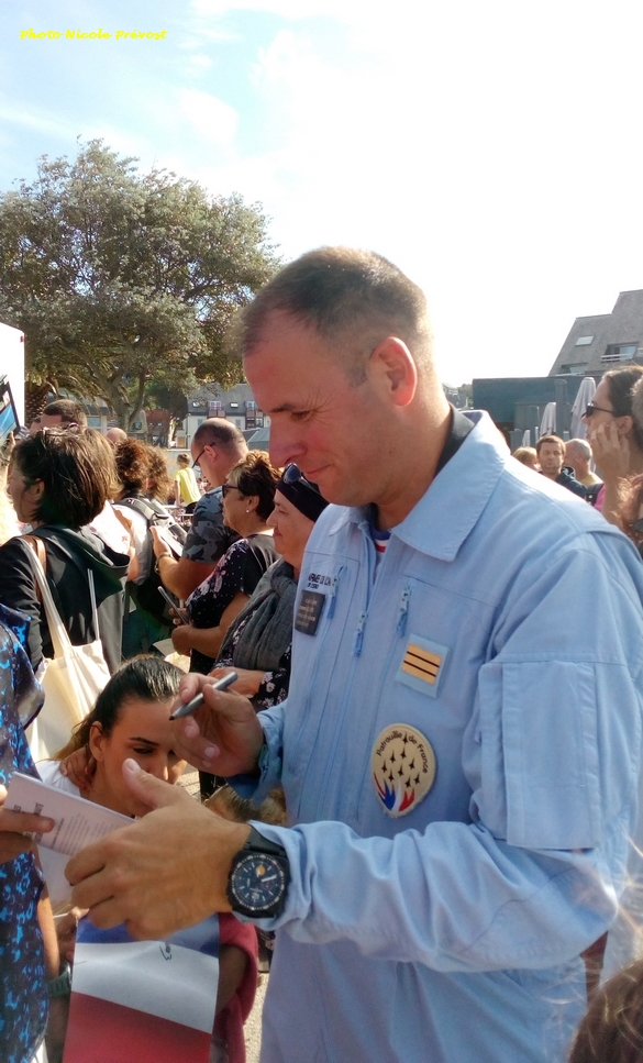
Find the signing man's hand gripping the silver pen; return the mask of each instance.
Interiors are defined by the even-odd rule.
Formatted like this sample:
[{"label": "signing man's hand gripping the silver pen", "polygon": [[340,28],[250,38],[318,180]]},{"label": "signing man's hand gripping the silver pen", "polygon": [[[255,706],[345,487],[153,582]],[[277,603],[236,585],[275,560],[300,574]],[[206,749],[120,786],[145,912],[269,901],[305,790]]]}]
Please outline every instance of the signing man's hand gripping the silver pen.
[{"label": "signing man's hand gripping the silver pen", "polygon": [[179,704],[200,691],[204,704],[189,717],[175,720],[174,750],[202,772],[228,777],[252,774],[264,744],[262,724],[252,701],[239,694],[213,689],[212,676],[186,675],[179,685]]}]

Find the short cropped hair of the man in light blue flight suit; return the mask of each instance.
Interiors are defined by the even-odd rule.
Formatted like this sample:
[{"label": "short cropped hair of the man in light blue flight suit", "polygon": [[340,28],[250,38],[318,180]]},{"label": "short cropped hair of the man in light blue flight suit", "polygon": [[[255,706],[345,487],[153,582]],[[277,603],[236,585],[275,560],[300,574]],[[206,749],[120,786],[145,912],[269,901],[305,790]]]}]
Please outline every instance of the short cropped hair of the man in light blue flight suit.
[{"label": "short cropped hair of the man in light blue flight suit", "polygon": [[259,342],[266,319],[281,311],[341,347],[354,383],[386,336],[402,340],[417,363],[432,361],[433,335],[426,299],[418,285],[372,251],[320,247],[285,266],[241,314],[244,354]]}]

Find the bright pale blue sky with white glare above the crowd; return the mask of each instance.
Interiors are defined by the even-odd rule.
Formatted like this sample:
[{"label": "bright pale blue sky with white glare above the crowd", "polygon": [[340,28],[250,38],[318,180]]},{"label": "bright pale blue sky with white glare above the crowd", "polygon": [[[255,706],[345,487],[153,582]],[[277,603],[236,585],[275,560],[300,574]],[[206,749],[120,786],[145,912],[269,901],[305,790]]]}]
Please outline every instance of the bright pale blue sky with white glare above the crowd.
[{"label": "bright pale blue sky with white glare above the crowd", "polygon": [[643,288],[642,30],[634,0],[18,0],[0,189],[101,136],[262,202],[286,258],[390,257],[446,383],[545,374],[576,315]]}]

